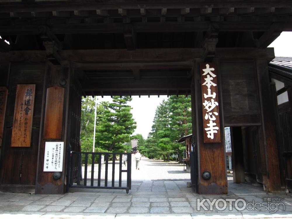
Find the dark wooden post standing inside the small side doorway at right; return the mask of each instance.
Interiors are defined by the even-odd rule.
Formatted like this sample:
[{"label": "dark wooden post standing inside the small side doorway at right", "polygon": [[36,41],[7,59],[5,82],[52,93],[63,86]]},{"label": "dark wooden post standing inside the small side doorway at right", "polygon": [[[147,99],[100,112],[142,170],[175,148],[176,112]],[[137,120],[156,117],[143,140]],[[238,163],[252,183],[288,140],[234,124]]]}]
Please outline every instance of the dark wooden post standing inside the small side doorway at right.
[{"label": "dark wooden post standing inside the small side doorway at right", "polygon": [[233,182],[244,183],[244,158],[241,127],[230,127]]}]

